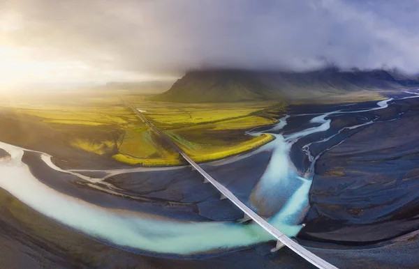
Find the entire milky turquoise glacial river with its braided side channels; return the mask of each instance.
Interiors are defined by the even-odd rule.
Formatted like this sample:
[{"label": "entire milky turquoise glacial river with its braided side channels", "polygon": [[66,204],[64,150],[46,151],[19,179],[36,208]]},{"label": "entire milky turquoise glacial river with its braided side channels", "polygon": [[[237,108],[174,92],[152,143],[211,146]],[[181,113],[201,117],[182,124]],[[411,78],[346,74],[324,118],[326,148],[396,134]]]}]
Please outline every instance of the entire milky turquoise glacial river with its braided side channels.
[{"label": "entire milky turquoise glacial river with its braided side channels", "polygon": [[[417,98],[414,92],[404,98]],[[249,132],[251,135],[270,133],[276,139],[269,144],[258,148],[256,151],[232,157],[224,160],[224,163],[238,162],[245,157],[272,151],[270,162],[267,164],[265,173],[253,189],[250,201],[253,208],[258,210],[264,203],[276,203],[277,200],[286,201],[279,210],[270,218],[269,222],[287,236],[296,236],[302,228],[302,219],[309,207],[308,194],[311,180],[314,176],[314,163],[325,149],[317,155],[310,151],[312,144],[322,143],[332,139],[345,130],[353,130],[365,125],[373,124],[377,118],[367,119],[365,123],[346,126],[334,133],[328,133],[327,137],[314,136],[308,143],[302,146],[301,150],[307,155],[309,165],[305,171],[299,171],[291,161],[291,147],[302,138],[310,138],[313,134],[321,134],[330,131],[332,118],[342,114],[369,112],[378,109],[385,109],[392,102],[404,98],[393,98],[376,102],[369,108],[353,109],[347,105],[341,105],[339,109],[322,114],[289,114],[279,119],[279,123],[267,130]],[[309,127],[296,132],[282,130],[286,128],[288,121],[292,118],[308,118]],[[29,134],[30,135],[30,134]],[[340,143],[340,142],[339,142]],[[336,145],[335,145],[336,146]],[[51,187],[41,183],[31,174],[27,164],[22,162],[25,152],[30,150],[0,142],[3,148],[10,154],[10,157],[0,159],[0,187],[9,192],[27,206],[34,208],[39,213],[50,219],[64,224],[71,229],[97,238],[105,243],[122,247],[124,249],[138,249],[145,252],[161,254],[196,254],[210,250],[225,250],[228,248],[243,247],[255,243],[273,240],[269,233],[264,231],[257,224],[237,224],[235,222],[186,222],[171,220],[169,218],[142,214],[130,210],[104,208],[82,199],[63,194]],[[47,153],[38,153],[45,164],[61,173],[73,174],[80,180],[86,180],[93,184],[105,186],[105,178],[115,174],[134,173],[133,169],[117,169],[104,171],[108,176],[103,178],[91,178],[84,176],[78,171],[66,171],[55,166]],[[173,169],[173,168],[166,168]],[[142,171],[147,169],[142,169]],[[162,170],[159,168],[149,169]],[[95,170],[97,171],[97,170]]]}]

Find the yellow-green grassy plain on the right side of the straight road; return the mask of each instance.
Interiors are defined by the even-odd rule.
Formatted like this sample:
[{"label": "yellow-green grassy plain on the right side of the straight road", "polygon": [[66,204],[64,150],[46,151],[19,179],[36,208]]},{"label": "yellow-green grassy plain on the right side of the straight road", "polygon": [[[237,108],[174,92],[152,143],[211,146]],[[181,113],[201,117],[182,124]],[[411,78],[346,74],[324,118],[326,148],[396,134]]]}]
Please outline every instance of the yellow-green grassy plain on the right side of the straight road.
[{"label": "yellow-green grassy plain on the right side of the straight road", "polygon": [[141,97],[131,103],[196,162],[244,153],[272,141],[270,134],[245,132],[276,123],[286,107],[277,101],[191,104],[149,102]]}]

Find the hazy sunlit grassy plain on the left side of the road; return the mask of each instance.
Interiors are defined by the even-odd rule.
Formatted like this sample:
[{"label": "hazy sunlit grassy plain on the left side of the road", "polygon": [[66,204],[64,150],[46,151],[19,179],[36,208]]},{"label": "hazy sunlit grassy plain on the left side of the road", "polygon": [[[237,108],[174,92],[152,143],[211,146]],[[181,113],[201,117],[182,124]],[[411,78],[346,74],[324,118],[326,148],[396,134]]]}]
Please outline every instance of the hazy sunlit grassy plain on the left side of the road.
[{"label": "hazy sunlit grassy plain on the left side of the road", "polygon": [[143,166],[181,164],[182,158],[119,96],[54,93],[3,99],[0,141],[46,151],[64,160],[84,152],[89,153],[87,158]]}]

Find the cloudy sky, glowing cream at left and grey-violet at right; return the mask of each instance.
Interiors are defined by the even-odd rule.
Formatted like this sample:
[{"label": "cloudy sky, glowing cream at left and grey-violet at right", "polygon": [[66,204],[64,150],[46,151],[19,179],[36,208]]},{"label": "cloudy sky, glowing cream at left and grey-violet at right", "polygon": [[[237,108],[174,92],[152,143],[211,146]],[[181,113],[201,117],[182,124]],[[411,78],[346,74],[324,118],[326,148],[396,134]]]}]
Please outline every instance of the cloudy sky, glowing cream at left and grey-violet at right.
[{"label": "cloudy sky, glowing cream at left and grey-violet at right", "polygon": [[419,72],[419,1],[0,0],[0,86],[187,70]]}]

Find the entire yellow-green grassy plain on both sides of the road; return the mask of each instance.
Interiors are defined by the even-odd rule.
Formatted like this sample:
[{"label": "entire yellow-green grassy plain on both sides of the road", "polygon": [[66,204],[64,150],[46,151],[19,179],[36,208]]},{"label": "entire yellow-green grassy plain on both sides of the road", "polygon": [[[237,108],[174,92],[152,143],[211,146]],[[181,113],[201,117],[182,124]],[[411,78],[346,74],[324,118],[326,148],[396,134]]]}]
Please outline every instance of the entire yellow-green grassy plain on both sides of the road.
[{"label": "entire yellow-green grassy plain on both sides of the road", "polygon": [[[106,160],[141,166],[184,163],[123,100],[130,101],[197,162],[243,153],[274,139],[247,130],[275,123],[278,102],[181,104],[151,102],[131,93],[55,93],[0,104],[0,141],[34,148],[67,160],[88,153]],[[35,99],[35,100],[34,100]],[[13,129],[14,132],[8,132]],[[15,135],[14,135],[14,134]]]}]

